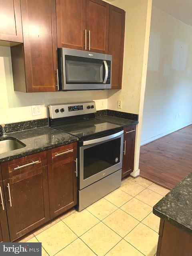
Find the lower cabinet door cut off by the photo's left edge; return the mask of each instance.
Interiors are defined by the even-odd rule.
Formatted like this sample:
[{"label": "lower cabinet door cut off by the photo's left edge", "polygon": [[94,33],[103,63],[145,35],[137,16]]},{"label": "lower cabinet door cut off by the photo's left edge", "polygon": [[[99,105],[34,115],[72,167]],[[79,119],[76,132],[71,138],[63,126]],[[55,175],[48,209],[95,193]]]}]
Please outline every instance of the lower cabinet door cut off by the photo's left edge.
[{"label": "lower cabinet door cut off by the photo's left edge", "polygon": [[5,198],[3,192],[3,182],[0,182],[0,242],[10,242]]}]

